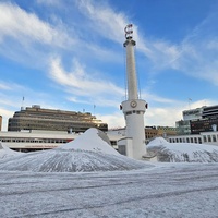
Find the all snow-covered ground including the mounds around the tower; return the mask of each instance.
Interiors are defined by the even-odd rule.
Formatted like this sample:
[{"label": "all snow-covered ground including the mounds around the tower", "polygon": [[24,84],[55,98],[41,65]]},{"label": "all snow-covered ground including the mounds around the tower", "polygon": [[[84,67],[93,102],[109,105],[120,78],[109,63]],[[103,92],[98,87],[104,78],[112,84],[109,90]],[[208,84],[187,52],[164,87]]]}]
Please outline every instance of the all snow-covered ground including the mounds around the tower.
[{"label": "all snow-covered ground including the mounds around the tower", "polygon": [[156,138],[148,149],[165,161],[197,157],[210,164],[136,161],[118,154],[96,130],[38,153],[17,154],[1,144],[0,217],[218,217],[216,146]]}]

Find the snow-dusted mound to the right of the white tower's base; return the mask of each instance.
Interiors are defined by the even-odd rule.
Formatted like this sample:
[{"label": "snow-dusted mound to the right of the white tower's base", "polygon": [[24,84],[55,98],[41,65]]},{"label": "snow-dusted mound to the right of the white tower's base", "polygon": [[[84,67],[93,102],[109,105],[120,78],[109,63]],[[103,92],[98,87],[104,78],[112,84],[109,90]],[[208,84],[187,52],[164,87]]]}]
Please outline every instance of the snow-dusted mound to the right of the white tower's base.
[{"label": "snow-dusted mound to the right of the white tower's base", "polygon": [[195,143],[168,143],[156,137],[147,145],[147,150],[162,162],[218,162],[218,146]]}]

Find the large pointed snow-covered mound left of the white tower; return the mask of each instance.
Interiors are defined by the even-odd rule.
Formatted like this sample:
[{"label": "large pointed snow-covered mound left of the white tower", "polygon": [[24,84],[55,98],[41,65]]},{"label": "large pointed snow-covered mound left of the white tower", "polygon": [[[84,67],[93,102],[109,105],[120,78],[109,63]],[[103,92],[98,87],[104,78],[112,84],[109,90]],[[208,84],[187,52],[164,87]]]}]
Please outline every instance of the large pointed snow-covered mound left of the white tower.
[{"label": "large pointed snow-covered mound left of the white tower", "polygon": [[34,152],[8,159],[0,164],[1,170],[37,172],[89,172],[132,170],[152,167],[116,152],[107,135],[89,129],[75,141],[50,150]]}]

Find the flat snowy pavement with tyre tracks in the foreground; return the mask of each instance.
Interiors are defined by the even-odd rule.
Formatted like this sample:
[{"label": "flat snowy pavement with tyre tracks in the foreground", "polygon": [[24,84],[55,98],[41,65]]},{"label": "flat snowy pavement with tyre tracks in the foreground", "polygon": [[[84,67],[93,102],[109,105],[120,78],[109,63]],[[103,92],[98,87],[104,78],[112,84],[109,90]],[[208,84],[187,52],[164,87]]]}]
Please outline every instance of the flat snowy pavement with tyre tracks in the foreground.
[{"label": "flat snowy pavement with tyre tracks in the foreground", "polygon": [[113,172],[0,171],[1,218],[218,217],[218,164]]}]

